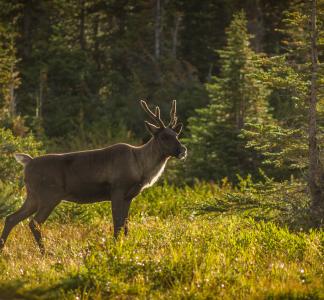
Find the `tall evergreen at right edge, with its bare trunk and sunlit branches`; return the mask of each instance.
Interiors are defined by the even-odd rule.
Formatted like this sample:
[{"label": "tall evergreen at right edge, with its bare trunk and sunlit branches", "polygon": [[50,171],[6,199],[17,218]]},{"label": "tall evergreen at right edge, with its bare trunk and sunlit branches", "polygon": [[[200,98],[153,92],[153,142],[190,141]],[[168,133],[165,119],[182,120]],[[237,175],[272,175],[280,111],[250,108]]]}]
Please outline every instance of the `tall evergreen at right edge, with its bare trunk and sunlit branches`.
[{"label": "tall evergreen at right edge, with its bare trunk and sunlit branches", "polygon": [[[308,183],[311,215],[314,223],[323,222],[324,103],[323,68],[317,57],[317,45],[323,43],[323,1],[297,2],[285,13],[285,52],[266,61],[263,78],[276,94],[279,123],[276,126],[251,125],[244,132],[249,147],[267,157],[266,163],[295,170]],[[320,58],[320,57],[319,57]],[[297,172],[296,172],[297,171]],[[305,176],[306,175],[306,176]],[[306,189],[305,189],[306,190]]]}]

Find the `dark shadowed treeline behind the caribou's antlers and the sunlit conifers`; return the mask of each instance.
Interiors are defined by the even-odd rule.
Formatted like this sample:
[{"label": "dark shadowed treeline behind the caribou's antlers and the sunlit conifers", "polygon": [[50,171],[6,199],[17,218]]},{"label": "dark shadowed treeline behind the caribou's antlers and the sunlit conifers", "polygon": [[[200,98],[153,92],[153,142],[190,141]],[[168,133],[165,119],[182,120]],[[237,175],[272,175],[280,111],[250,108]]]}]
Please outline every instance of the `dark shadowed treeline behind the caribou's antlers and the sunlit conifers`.
[{"label": "dark shadowed treeline behind the caribou's antlers and the sunlit conifers", "polygon": [[[291,1],[0,1],[20,84],[15,114],[48,137],[125,125],[143,137],[138,99],[186,120],[208,103],[233,13],[244,9],[252,48],[278,54],[276,31]],[[13,39],[13,40],[11,40]]]}]

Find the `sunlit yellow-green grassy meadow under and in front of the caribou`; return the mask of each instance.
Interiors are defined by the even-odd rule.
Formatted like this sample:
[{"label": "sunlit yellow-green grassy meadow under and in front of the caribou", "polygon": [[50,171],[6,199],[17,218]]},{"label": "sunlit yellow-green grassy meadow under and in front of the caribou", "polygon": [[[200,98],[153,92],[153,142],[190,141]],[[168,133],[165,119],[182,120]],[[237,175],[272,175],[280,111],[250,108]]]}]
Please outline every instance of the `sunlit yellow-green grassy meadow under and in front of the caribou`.
[{"label": "sunlit yellow-green grassy meadow under and in front of the caribou", "polygon": [[0,299],[324,299],[323,232],[197,213],[230,189],[151,188],[117,242],[109,204],[64,204],[44,226],[45,257],[17,226],[0,256]]}]

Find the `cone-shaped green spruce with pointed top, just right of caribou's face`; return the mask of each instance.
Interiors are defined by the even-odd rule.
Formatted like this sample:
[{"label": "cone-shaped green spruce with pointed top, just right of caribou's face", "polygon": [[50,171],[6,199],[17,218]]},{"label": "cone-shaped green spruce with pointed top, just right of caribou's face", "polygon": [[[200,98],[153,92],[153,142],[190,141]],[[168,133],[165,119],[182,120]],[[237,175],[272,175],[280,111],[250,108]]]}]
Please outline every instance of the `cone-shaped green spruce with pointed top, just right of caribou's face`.
[{"label": "cone-shaped green spruce with pointed top, just right of caribou's face", "polygon": [[251,35],[243,11],[234,15],[226,30],[227,45],[217,51],[221,72],[207,90],[210,104],[189,119],[192,176],[235,178],[256,171],[259,161],[239,137],[246,123],[271,122],[266,98],[269,90],[258,79],[261,56],[250,47]]}]

